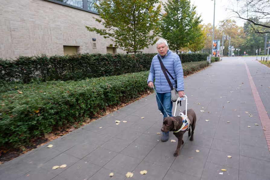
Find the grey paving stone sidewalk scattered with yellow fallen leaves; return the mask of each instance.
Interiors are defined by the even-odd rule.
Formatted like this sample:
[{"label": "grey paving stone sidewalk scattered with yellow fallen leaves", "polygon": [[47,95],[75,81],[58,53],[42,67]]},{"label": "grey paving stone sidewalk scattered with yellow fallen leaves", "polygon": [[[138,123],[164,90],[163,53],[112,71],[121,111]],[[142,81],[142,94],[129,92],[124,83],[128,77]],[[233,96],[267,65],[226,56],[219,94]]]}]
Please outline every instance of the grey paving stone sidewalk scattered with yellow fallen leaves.
[{"label": "grey paving stone sidewalk scattered with yellow fallen leaves", "polygon": [[[268,68],[254,58],[223,58],[185,78],[188,108],[196,112],[197,124],[194,141],[185,133],[178,157],[173,156],[177,143],[170,142],[176,140],[171,132],[169,141],[160,142],[162,115],[152,94],[50,142],[52,148],[40,146],[4,163],[0,179],[270,179],[270,153],[245,62],[270,112],[269,80],[263,78]],[[184,109],[182,103],[177,113]],[[62,164],[67,167],[52,169]],[[220,169],[227,171],[221,175]],[[140,175],[142,170],[147,174]],[[113,177],[109,177],[111,172]],[[133,177],[126,178],[127,172],[133,172]]]}]

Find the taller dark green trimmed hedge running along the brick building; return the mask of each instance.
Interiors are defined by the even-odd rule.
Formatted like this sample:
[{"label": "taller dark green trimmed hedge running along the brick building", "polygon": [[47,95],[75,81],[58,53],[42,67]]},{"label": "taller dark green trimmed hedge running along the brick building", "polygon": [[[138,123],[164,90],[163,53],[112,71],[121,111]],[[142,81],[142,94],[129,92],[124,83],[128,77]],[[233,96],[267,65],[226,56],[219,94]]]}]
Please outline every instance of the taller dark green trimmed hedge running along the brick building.
[{"label": "taller dark green trimmed hedge running along the brick building", "polygon": [[[0,59],[0,83],[81,80],[141,72],[150,69],[152,54],[76,54],[72,56],[20,56]],[[179,55],[180,56],[180,55]],[[182,54],[182,63],[204,61],[207,54]]]}]

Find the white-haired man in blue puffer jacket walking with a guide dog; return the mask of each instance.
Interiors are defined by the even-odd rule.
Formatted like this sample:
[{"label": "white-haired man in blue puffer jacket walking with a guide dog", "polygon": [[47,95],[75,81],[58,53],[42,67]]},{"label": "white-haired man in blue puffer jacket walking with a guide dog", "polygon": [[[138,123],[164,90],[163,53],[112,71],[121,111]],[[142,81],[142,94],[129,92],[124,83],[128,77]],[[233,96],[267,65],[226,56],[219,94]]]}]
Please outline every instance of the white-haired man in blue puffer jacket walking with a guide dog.
[{"label": "white-haired man in blue puffer jacket walking with a guide dog", "polygon": [[[148,76],[148,86],[150,88],[154,88],[154,78],[155,80],[155,88],[156,88],[156,101],[158,104],[159,110],[163,114],[163,118],[172,116],[172,101],[171,101],[171,88],[169,86],[168,81],[164,73],[162,72],[161,65],[159,63],[158,56],[161,58],[165,68],[169,71],[174,79],[177,79],[177,92],[179,97],[183,97],[184,93],[184,76],[183,76],[183,68],[180,61],[179,56],[176,53],[173,53],[169,50],[168,43],[165,39],[159,39],[156,42],[156,48],[158,50],[158,54],[153,57],[150,73]],[[169,76],[169,75],[168,75]],[[172,80],[171,76],[169,79],[172,82],[173,87],[176,86],[175,81]],[[163,107],[162,107],[163,105]],[[169,132],[162,133],[161,141],[167,141],[169,139]]]}]

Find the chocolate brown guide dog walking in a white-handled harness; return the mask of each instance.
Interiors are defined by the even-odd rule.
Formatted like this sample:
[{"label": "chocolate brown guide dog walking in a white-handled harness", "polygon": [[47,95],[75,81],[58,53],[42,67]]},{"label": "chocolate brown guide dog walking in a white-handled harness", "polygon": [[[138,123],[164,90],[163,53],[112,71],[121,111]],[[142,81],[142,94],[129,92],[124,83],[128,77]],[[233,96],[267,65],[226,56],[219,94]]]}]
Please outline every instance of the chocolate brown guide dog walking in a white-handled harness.
[{"label": "chocolate brown guide dog walking in a white-handled harness", "polygon": [[[185,111],[183,112],[185,114]],[[190,130],[188,130],[188,137],[190,137],[189,140],[193,141],[193,134],[194,134],[194,129],[195,129],[195,124],[196,124],[196,114],[192,109],[188,109],[187,113],[188,119],[190,120]],[[177,131],[182,127],[183,124],[183,118],[181,116],[174,116],[174,117],[165,117],[163,119],[163,126],[161,128],[161,131],[164,133],[167,133],[169,131]],[[192,129],[192,132],[190,132]],[[183,141],[183,135],[187,131],[186,130],[180,130],[178,133],[173,133],[177,138],[178,138],[178,144],[177,148],[174,152],[174,156],[179,155],[181,143],[184,144]]]}]

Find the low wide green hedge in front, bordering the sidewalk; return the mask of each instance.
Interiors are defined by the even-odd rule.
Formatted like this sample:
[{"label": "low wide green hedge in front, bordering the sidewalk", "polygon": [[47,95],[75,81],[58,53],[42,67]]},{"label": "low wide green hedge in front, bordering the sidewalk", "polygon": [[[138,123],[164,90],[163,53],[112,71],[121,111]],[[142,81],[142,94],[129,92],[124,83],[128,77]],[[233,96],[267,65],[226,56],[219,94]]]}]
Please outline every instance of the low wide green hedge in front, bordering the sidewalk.
[{"label": "low wide green hedge in front, bordering the sidewalk", "polygon": [[[206,61],[183,63],[184,75],[206,66]],[[0,146],[25,145],[31,138],[50,133],[53,127],[81,121],[108,105],[127,102],[149,90],[148,74],[144,71],[81,81],[23,84],[1,93]]]}]

